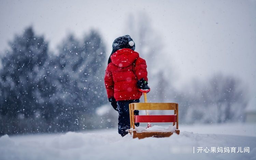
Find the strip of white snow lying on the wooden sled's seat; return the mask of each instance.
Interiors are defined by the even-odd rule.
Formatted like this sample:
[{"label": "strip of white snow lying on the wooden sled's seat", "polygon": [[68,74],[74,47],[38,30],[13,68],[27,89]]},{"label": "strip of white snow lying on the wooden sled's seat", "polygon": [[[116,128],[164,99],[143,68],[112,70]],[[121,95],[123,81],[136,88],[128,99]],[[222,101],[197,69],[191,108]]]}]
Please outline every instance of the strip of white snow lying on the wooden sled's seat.
[{"label": "strip of white snow lying on the wooden sled's seat", "polygon": [[[132,130],[132,128],[131,128]],[[175,132],[176,130],[176,125],[175,126],[168,126],[167,128],[166,127],[162,127],[162,126],[152,126],[152,127],[149,127],[149,128],[144,128],[144,127],[136,127],[135,126],[135,130],[137,132]]]}]

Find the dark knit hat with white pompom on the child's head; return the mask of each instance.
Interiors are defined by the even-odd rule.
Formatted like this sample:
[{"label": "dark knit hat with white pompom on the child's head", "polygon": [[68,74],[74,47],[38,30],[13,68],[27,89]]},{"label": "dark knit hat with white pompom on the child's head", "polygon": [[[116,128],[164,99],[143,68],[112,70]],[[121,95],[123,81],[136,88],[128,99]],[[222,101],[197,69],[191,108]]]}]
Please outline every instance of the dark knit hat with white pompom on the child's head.
[{"label": "dark knit hat with white pompom on the child's head", "polygon": [[[112,44],[112,47],[113,47],[113,50],[112,50],[111,55],[113,53],[115,53],[117,50],[123,49],[123,48],[130,48],[130,49],[134,50],[135,49],[135,43],[131,39],[130,35],[124,35],[122,37],[118,37],[117,39],[115,39],[113,44]],[[108,64],[110,62],[111,62],[111,59],[109,57]]]}]

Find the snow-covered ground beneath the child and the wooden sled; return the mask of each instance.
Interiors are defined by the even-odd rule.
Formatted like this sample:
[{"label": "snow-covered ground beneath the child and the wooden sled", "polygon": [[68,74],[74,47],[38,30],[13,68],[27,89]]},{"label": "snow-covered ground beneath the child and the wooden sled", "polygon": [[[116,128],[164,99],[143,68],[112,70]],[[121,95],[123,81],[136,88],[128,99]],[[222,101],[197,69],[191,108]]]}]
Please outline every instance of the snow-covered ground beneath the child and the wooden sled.
[{"label": "snow-covered ground beneath the child and the wooden sled", "polygon": [[[256,159],[256,125],[253,123],[180,125],[180,130],[180,135],[141,140],[132,139],[130,135],[122,138],[117,129],[4,135],[0,137],[0,159]],[[216,147],[216,152],[211,152],[214,150],[211,147]],[[229,153],[227,150],[224,153],[227,147]],[[231,147],[236,147],[236,153],[231,153]],[[240,149],[244,151],[245,147],[250,148],[249,152],[241,153]],[[198,153],[199,149],[204,150]]]}]

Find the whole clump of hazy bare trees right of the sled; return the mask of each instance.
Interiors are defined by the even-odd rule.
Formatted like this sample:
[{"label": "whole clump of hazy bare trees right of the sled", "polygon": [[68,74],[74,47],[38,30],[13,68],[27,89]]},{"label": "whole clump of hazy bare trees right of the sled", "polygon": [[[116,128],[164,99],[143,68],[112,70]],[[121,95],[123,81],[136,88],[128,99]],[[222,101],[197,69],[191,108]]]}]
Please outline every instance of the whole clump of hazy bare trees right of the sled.
[{"label": "whole clump of hazy bare trees right of the sled", "polygon": [[180,119],[186,123],[242,121],[247,105],[246,87],[239,78],[213,74],[206,81],[195,79],[175,96]]}]

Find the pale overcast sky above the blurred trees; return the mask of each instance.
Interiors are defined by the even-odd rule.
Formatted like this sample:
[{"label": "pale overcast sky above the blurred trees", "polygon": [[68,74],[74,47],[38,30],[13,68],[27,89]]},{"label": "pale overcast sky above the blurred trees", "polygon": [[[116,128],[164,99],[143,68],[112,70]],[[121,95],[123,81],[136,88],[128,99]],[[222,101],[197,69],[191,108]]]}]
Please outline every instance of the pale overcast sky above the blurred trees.
[{"label": "pale overcast sky above the blurred trees", "polygon": [[241,78],[249,86],[249,96],[256,99],[256,1],[252,0],[0,0],[0,51],[15,33],[32,25],[52,50],[68,32],[81,38],[90,28],[98,29],[110,53],[114,39],[129,34],[124,30],[128,14],[141,11],[165,43],[165,56],[179,74],[177,85],[221,71]]}]

